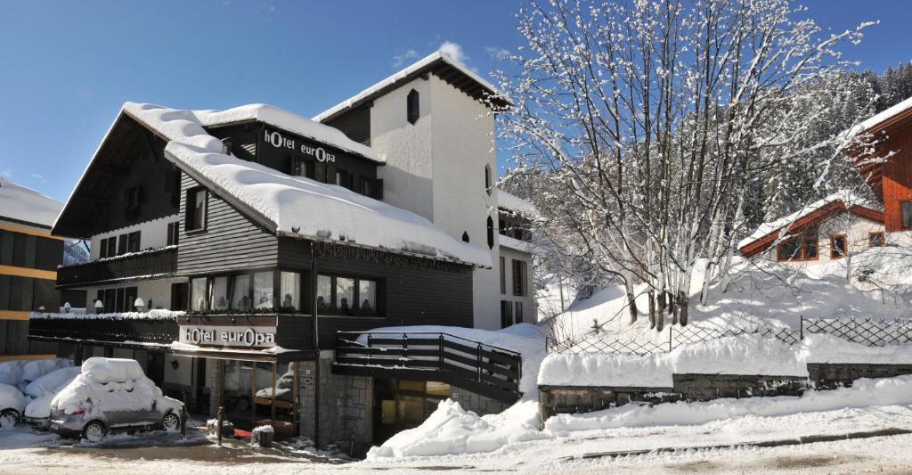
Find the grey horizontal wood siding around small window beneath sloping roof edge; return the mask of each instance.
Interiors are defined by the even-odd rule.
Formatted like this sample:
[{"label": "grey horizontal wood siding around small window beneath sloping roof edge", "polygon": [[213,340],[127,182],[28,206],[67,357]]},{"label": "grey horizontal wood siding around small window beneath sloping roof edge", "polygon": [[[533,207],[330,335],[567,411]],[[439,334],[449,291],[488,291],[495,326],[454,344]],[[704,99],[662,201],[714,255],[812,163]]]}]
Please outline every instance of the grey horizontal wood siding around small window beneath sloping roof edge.
[{"label": "grey horizontal wood siding around small window beneath sloping roof edge", "polygon": [[188,233],[184,230],[187,190],[198,186],[199,183],[186,173],[181,174],[178,274],[275,267],[278,255],[275,234],[266,231],[212,191],[209,192],[205,231]]}]

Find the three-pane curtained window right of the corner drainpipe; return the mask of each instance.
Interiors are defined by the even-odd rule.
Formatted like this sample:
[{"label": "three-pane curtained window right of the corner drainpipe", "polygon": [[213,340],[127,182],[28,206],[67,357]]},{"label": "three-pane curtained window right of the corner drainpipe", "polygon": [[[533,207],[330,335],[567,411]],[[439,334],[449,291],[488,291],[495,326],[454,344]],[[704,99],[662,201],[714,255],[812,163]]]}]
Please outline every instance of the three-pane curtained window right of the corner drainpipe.
[{"label": "three-pane curtained window right of the corner drainpipe", "polygon": [[317,313],[330,315],[378,315],[378,283],[369,279],[318,275]]}]

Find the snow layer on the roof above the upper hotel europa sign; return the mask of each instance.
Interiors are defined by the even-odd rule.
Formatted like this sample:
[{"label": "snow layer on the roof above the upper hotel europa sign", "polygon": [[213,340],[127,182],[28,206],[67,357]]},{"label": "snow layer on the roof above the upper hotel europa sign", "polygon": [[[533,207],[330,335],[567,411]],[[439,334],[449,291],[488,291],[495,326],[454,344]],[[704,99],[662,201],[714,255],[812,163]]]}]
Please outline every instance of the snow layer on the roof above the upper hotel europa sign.
[{"label": "snow layer on the roof above the upper hotel europa sign", "polygon": [[380,161],[377,152],[367,145],[348,139],[341,130],[301,117],[284,108],[268,104],[249,104],[226,110],[193,111],[205,127],[259,120],[279,129],[304,136],[308,139],[332,145],[337,149],[355,153],[370,160]]}]

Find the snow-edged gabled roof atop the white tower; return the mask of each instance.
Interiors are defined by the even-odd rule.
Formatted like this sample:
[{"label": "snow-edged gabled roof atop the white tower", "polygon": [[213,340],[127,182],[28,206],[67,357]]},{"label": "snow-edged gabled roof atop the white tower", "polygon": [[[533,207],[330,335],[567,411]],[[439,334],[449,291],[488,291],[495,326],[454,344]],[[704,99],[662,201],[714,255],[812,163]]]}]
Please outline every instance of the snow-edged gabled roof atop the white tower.
[{"label": "snow-edged gabled roof atop the white tower", "polygon": [[494,104],[499,106],[513,105],[513,101],[505,98],[497,88],[483,77],[466,67],[461,62],[449,57],[440,51],[431,53],[409,67],[393,74],[377,84],[364,89],[355,96],[347,98],[332,108],[328,108],[314,117],[317,122],[326,122],[335,119],[347,110],[359,108],[374,98],[378,98],[390,90],[399,88],[401,84],[409,82],[425,74],[433,74],[447,81],[455,88],[479,100],[492,98]]}]

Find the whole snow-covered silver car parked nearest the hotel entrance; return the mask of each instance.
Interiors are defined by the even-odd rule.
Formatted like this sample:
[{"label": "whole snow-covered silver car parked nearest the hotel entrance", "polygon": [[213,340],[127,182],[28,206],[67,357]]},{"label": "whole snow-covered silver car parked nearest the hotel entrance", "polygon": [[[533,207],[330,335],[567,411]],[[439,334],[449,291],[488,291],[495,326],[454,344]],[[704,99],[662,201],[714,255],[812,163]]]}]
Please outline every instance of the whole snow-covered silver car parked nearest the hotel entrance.
[{"label": "whole snow-covered silver car parked nearest the hotel entrance", "polygon": [[112,431],[181,429],[177,399],[162,396],[132,359],[88,358],[50,405],[50,430],[98,442]]}]

